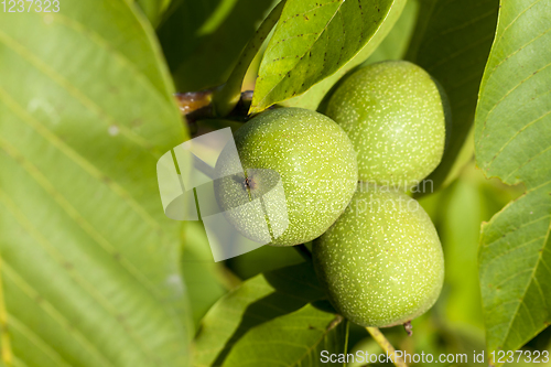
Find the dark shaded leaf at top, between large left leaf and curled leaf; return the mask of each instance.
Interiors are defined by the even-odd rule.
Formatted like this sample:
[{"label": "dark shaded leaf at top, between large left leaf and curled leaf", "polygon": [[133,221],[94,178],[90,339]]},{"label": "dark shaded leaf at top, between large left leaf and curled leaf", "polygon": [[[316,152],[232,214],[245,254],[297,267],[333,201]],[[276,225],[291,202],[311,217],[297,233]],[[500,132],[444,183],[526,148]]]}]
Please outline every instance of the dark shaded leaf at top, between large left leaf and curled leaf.
[{"label": "dark shaded leaf at top, between large left leaf and curled leaf", "polygon": [[159,29],[180,91],[226,82],[276,0],[182,0]]}]

